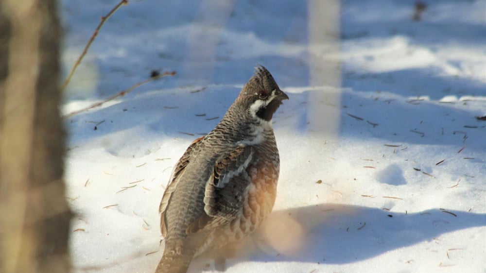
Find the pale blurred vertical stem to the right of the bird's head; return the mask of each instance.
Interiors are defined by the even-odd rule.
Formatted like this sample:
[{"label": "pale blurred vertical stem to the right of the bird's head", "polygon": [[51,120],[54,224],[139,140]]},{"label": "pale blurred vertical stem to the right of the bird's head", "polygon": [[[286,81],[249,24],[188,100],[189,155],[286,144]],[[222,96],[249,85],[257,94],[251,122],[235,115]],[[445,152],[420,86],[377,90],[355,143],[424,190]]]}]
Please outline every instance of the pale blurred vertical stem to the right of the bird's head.
[{"label": "pale blurred vertical stem to the right of the bird's head", "polygon": [[341,104],[339,0],[308,1],[308,64],[310,92],[308,121],[313,134],[334,142]]}]

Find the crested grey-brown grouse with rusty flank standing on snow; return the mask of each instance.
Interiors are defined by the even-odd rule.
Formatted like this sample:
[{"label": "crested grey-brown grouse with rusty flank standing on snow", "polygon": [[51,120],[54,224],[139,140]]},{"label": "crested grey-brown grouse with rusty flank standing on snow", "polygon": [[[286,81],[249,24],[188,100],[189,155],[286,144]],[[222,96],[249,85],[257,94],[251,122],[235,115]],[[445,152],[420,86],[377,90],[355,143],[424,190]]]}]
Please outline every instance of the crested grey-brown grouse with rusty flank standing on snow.
[{"label": "crested grey-brown grouse with rusty flank standing on snow", "polygon": [[[156,273],[186,273],[195,256],[238,242],[267,218],[280,169],[272,118],[288,99],[259,66],[219,124],[187,148],[159,205],[165,248]],[[224,259],[216,267],[224,271]]]}]

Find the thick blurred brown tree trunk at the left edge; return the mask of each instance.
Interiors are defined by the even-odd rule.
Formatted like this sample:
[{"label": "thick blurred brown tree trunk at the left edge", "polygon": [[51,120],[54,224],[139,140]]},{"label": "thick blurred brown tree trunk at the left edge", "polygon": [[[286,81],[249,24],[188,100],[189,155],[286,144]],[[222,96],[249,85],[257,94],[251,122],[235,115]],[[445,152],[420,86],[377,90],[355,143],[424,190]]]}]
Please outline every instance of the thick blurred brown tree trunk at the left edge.
[{"label": "thick blurred brown tree trunk at the left edge", "polygon": [[55,0],[0,0],[0,272],[67,273]]}]

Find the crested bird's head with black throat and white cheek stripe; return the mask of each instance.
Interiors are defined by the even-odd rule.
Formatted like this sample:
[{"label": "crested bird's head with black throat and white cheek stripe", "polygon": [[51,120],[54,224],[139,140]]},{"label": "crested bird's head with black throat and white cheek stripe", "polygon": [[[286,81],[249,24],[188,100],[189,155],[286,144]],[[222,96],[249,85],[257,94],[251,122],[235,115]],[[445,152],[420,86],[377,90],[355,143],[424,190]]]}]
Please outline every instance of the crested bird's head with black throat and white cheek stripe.
[{"label": "crested bird's head with black throat and white cheek stripe", "polygon": [[270,121],[283,100],[289,96],[278,88],[272,74],[263,66],[255,68],[255,75],[243,86],[236,103],[251,117]]}]

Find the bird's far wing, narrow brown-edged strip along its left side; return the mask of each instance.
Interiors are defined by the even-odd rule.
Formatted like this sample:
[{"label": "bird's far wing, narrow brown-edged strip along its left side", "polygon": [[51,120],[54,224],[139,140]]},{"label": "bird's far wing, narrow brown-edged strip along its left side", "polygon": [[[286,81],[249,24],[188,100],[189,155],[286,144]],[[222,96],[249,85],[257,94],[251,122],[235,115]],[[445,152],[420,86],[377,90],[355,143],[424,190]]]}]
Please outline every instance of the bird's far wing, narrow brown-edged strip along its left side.
[{"label": "bird's far wing, narrow brown-edged strip along its left side", "polygon": [[177,187],[177,183],[179,182],[178,178],[180,177],[181,173],[184,171],[187,164],[189,163],[189,159],[192,155],[192,150],[198,144],[198,142],[203,138],[204,136],[199,137],[196,140],[192,141],[191,145],[189,145],[186,152],[179,159],[179,161],[174,167],[174,171],[172,171],[171,179],[169,179],[169,184],[167,185],[164,195],[162,196],[162,201],[160,201],[160,206],[158,208],[158,211],[160,213],[160,230],[162,232],[162,236],[164,237],[166,237],[167,235],[167,224],[165,222],[165,210],[167,208],[167,205],[169,204],[169,200],[171,199],[172,193]]}]

